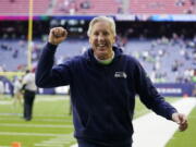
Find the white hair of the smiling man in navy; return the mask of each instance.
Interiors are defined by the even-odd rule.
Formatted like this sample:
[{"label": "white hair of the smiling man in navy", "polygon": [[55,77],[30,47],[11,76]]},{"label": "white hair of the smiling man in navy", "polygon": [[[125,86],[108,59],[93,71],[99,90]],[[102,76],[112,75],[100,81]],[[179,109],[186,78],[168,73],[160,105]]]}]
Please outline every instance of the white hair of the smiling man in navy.
[{"label": "white hair of the smiling man in navy", "polygon": [[94,17],[89,23],[88,30],[87,30],[88,37],[91,34],[91,29],[93,29],[94,25],[98,22],[108,22],[111,27],[111,32],[112,32],[113,36],[117,36],[115,23],[114,23],[113,19],[108,17],[108,16],[97,16],[97,17]]}]

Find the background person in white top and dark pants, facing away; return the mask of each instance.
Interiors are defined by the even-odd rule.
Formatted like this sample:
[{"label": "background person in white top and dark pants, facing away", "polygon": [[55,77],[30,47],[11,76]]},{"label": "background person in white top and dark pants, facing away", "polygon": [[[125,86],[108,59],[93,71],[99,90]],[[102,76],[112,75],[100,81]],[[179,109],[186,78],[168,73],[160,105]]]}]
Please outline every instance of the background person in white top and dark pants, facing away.
[{"label": "background person in white top and dark pants, facing away", "polygon": [[36,95],[37,87],[35,85],[35,71],[27,70],[26,74],[23,77],[23,87],[24,90],[24,119],[30,121],[33,118],[33,107],[34,99]]}]

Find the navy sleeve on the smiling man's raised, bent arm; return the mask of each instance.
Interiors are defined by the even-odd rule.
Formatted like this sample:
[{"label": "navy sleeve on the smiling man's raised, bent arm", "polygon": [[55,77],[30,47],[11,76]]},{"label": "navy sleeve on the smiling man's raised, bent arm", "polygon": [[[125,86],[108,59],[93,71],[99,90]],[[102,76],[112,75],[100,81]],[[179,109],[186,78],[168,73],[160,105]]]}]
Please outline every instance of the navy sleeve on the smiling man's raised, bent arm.
[{"label": "navy sleeve on the smiling man's raised, bent arm", "polygon": [[47,44],[38,61],[36,70],[36,85],[38,87],[58,87],[69,85],[69,63],[53,65],[57,46]]}]

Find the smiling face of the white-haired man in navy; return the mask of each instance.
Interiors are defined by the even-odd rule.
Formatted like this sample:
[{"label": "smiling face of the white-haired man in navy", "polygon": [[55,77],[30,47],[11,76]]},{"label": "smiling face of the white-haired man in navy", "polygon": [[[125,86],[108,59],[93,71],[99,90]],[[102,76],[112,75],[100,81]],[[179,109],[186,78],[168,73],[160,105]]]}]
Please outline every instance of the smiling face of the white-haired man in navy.
[{"label": "smiling face of the white-haired man in navy", "polygon": [[100,60],[107,60],[112,57],[112,45],[115,36],[112,33],[110,23],[106,21],[96,22],[89,34],[89,42],[94,54]]}]

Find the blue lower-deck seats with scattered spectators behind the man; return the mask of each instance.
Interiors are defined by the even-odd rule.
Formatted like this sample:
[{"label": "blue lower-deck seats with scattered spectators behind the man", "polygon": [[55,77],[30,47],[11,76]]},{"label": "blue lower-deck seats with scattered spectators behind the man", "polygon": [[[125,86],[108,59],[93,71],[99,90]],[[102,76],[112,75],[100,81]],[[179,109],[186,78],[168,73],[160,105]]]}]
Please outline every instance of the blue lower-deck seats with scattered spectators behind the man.
[{"label": "blue lower-deck seats with scattered spectators behind the man", "polygon": [[[36,66],[42,46],[46,42],[34,41],[33,65]],[[88,40],[69,39],[60,45],[57,63],[81,54],[88,48]],[[22,71],[26,66],[27,44],[22,40],[0,40],[0,65],[5,71]],[[196,65],[195,49],[184,41],[175,44],[167,38],[128,40],[123,47],[124,52],[137,58],[147,70],[154,82],[192,81]]]}]

